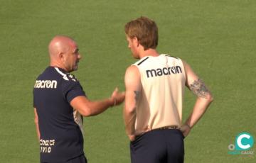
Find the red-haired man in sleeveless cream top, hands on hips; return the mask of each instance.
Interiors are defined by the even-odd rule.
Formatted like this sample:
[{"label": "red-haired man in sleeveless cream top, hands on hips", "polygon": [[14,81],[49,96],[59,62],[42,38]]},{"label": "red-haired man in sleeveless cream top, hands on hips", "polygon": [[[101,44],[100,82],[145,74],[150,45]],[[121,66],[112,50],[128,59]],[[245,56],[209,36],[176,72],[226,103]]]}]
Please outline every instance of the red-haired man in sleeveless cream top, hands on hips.
[{"label": "red-haired man in sleeveless cream top, hands on hips", "polygon": [[[132,56],[140,59],[127,68],[124,77],[124,123],[132,163],[182,163],[183,138],[213,101],[210,91],[186,62],[159,55],[158,27],[153,20],[136,18],[126,23],[124,31]],[[185,86],[198,98],[181,124]]]}]

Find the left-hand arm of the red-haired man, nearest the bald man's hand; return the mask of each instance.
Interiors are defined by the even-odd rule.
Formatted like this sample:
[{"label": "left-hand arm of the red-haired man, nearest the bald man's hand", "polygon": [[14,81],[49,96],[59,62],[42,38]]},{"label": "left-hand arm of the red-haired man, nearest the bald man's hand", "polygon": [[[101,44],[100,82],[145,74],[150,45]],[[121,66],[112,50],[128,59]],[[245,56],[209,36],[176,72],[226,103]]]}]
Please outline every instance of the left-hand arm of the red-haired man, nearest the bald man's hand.
[{"label": "left-hand arm of the red-haired man, nearest the bald man's hand", "polygon": [[127,68],[124,77],[125,102],[124,102],[124,124],[125,130],[132,141],[135,139],[135,120],[137,101],[140,96],[140,74],[136,66]]}]

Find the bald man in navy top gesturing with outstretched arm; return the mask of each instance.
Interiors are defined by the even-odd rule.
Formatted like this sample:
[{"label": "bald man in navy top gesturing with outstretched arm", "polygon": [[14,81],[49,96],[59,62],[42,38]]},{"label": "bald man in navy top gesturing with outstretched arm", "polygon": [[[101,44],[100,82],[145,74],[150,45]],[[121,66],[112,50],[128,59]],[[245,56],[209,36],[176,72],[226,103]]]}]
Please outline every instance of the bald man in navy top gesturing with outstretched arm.
[{"label": "bald man in navy top gesturing with outstretched arm", "polygon": [[38,76],[33,89],[36,131],[41,162],[85,163],[82,116],[95,116],[124,101],[114,89],[110,98],[90,101],[78,79],[78,45],[67,36],[55,36],[48,46],[50,66]]}]

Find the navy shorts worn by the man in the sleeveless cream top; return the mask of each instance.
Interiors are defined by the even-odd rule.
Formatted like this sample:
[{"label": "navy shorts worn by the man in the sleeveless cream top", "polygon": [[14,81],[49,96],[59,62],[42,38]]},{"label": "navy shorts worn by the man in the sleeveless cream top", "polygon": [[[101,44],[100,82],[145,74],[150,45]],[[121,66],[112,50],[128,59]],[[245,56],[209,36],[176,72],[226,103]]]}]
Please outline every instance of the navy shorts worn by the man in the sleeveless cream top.
[{"label": "navy shorts worn by the man in the sleeveless cream top", "polygon": [[178,129],[144,133],[130,143],[132,163],[183,163],[183,139]]}]

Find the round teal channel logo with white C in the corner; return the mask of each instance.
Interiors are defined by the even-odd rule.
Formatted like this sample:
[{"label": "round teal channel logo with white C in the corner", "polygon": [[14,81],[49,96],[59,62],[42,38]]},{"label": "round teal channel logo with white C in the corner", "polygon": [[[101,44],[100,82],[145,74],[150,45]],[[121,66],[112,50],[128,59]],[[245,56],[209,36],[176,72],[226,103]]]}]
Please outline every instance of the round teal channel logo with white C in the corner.
[{"label": "round teal channel logo with white C in the corner", "polygon": [[239,133],[235,137],[235,145],[228,145],[228,154],[254,154],[254,139],[250,133]]}]

